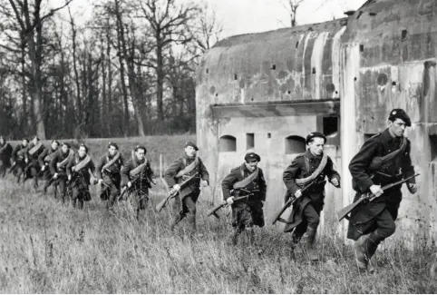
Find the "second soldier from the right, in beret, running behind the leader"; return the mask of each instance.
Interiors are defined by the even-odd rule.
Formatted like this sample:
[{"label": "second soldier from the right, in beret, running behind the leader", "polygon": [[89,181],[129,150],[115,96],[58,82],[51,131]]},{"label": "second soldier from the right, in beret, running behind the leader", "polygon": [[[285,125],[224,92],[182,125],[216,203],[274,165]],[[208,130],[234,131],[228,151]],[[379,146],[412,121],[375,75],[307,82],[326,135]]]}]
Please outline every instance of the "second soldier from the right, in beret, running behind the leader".
[{"label": "second soldier from the right, in beret, running behind the leader", "polygon": [[[325,177],[335,187],[340,187],[340,175],[335,171],[331,158],[324,153],[325,143],[325,134],[309,133],[306,136],[308,149],[296,156],[283,173],[287,190],[286,202],[288,198],[298,199],[293,205],[284,231],[293,231],[293,249],[305,234],[306,250],[311,261],[318,260],[315,241],[320,212],[325,204]],[[301,189],[310,183],[313,184],[306,192],[302,192]]]}]

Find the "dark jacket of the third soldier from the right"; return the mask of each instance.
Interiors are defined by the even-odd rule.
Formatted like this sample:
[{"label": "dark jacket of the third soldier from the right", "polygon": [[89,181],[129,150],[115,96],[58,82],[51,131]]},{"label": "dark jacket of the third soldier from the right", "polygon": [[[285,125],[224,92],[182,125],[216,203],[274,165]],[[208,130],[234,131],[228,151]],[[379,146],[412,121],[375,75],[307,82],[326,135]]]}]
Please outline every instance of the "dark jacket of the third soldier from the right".
[{"label": "dark jacket of the third soldier from the right", "polygon": [[[258,169],[257,177],[249,182],[245,190],[249,192],[254,192],[254,195],[248,198],[248,203],[250,202],[265,202],[266,201],[266,192],[267,192],[267,184],[264,179],[264,173],[261,168]],[[243,163],[241,166],[238,166],[230,171],[230,173],[223,179],[221,182],[221,190],[223,192],[223,199],[226,201],[231,196],[237,196],[239,190],[234,190],[234,183],[241,182],[243,179],[246,179],[250,174],[255,173],[248,171],[246,164]],[[245,193],[241,193],[244,195]]]}]

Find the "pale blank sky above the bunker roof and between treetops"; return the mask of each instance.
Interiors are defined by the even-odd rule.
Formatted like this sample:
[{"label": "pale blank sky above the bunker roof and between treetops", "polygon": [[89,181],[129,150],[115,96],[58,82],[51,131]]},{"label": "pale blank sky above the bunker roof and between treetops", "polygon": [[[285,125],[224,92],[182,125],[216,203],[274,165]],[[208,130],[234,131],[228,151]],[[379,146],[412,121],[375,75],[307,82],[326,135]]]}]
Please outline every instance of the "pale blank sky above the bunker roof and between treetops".
[{"label": "pale blank sky above the bunker roof and between treetops", "polygon": [[[52,5],[61,0],[50,0]],[[284,2],[286,0],[176,0],[209,5],[216,15],[223,32],[221,38],[235,34],[248,34],[276,30],[288,26]],[[297,25],[321,23],[345,17],[348,10],[357,10],[365,0],[304,0],[297,10]],[[73,0],[73,15],[86,20],[91,17],[92,0]],[[66,10],[63,11],[63,14]],[[65,15],[68,16],[68,15]]]}]

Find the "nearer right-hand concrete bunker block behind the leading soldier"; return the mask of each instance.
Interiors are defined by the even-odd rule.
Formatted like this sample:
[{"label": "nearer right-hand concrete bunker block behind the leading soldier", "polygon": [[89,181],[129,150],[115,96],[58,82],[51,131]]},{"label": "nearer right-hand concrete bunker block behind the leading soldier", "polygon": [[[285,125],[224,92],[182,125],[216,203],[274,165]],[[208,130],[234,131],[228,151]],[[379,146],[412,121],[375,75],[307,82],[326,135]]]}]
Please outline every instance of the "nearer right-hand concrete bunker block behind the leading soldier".
[{"label": "nearer right-hand concrete bunker block behind the leading soldier", "polygon": [[[393,108],[403,108],[412,117],[413,128],[407,136],[413,143],[413,164],[422,173],[421,188],[416,195],[403,190],[396,222],[401,231],[389,239],[403,237],[411,246],[413,241],[431,242],[437,237],[437,175],[430,156],[430,135],[437,123],[436,13],[435,0],[368,1],[349,19],[341,40],[343,171],[364,143],[365,134],[386,128]],[[354,192],[350,175],[343,176],[347,204]]]}]

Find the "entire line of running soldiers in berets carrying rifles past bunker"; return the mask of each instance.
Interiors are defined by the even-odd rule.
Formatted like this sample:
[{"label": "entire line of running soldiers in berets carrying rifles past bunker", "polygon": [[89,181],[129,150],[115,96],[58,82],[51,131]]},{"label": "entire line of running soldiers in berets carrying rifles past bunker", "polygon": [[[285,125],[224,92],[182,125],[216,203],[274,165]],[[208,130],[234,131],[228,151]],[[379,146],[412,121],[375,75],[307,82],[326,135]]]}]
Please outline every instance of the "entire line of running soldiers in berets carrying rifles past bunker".
[{"label": "entire line of running soldiers in berets carrying rifles past bunker", "polygon": [[[349,164],[353,176],[353,188],[356,191],[354,201],[364,193],[372,192],[377,199],[374,202],[364,202],[351,212],[347,237],[357,241],[364,236],[363,241],[355,243],[356,263],[359,270],[367,270],[368,264],[378,245],[391,236],[395,230],[394,221],[402,200],[401,185],[383,191],[382,186],[413,175],[413,165],[410,158],[411,143],[403,136],[406,127],[411,126],[411,120],[402,109],[394,109],[388,118],[388,128],[367,140],[361,150]],[[315,250],[316,231],[320,222],[320,213],[325,201],[325,179],[336,188],[340,187],[341,178],[335,171],[333,161],[324,152],[326,137],[323,133],[310,133],[306,137],[307,150],[296,156],[283,173],[286,185],[286,202],[293,200],[293,210],[286,222],[286,232],[291,232],[292,248],[305,240],[306,253],[309,260],[317,261]],[[11,148],[7,148],[3,138],[0,138],[0,159],[7,165],[3,156]],[[139,211],[143,210],[148,200],[151,183],[156,184],[151,163],[145,157],[144,146],[136,146],[131,159],[123,160],[116,143],[109,143],[108,153],[102,156],[99,164],[94,164],[87,155],[88,148],[81,144],[77,155],[74,155],[70,145],[63,143],[57,151],[58,143],[53,141],[50,149],[44,149],[37,137],[27,147],[27,141],[15,147],[12,153],[15,175],[20,173],[34,178],[37,184],[38,165],[44,172],[44,166],[50,167],[46,179],[53,180],[55,186],[65,190],[66,182],[72,182],[74,175],[79,175],[73,185],[73,200],[90,200],[88,190],[90,175],[97,174],[96,182],[104,185],[102,200],[108,200],[108,209],[112,209],[117,198],[126,191],[137,195]],[[185,144],[185,153],[173,162],[164,172],[168,186],[179,192],[173,202],[174,221],[171,230],[187,217],[191,230],[196,231],[196,202],[199,198],[200,185],[209,185],[209,172],[199,156],[199,148],[195,143]],[[20,151],[24,151],[20,153]],[[53,157],[51,155],[53,154]],[[44,159],[41,161],[41,159]],[[254,227],[264,227],[263,204],[266,201],[267,183],[261,168],[261,161],[255,152],[248,152],[244,162],[232,169],[221,182],[224,203],[232,209],[233,232],[231,241],[238,242],[238,236],[247,232],[249,241],[255,238]],[[31,163],[29,165],[18,162]],[[30,167],[30,168],[29,168]],[[2,170],[3,169],[3,170]],[[5,174],[5,168],[0,166],[0,172]],[[1,173],[0,173],[1,175]],[[30,176],[29,176],[30,175]],[[193,177],[195,176],[195,177]],[[82,177],[82,178],[81,178]],[[183,187],[180,183],[192,179]],[[47,183],[50,183],[47,182]],[[121,187],[123,187],[121,189]],[[412,178],[407,182],[411,193],[417,192],[417,186]],[[44,186],[44,191],[46,186]],[[81,197],[82,196],[82,197]],[[242,198],[244,197],[244,198]],[[237,201],[238,200],[238,201]]]}]

